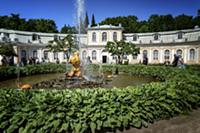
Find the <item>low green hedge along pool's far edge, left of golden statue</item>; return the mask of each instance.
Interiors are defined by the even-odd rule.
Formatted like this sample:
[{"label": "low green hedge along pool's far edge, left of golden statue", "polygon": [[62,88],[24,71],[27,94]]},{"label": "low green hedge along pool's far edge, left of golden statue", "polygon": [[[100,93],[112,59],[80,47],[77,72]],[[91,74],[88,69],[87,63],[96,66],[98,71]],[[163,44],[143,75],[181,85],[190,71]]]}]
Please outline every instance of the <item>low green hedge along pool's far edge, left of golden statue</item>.
[{"label": "low green hedge along pool's far edge, left of golden statue", "polygon": [[16,66],[0,67],[0,81],[9,78],[16,78],[18,71],[20,76],[29,76],[35,74],[47,74],[47,73],[61,73],[66,70],[66,65],[63,64],[37,64],[27,65],[18,68]]}]

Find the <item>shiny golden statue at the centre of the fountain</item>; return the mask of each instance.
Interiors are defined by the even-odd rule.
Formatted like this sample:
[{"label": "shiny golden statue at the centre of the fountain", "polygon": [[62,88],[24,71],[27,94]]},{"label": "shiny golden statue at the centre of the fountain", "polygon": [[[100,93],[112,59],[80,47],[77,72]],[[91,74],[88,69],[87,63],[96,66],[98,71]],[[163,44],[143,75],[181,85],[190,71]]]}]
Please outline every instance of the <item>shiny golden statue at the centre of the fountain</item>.
[{"label": "shiny golden statue at the centre of the fountain", "polygon": [[70,57],[69,59],[69,63],[72,64],[73,67],[69,73],[68,72],[66,73],[66,77],[68,79],[74,76],[81,78],[81,68],[80,68],[81,60],[79,57],[79,52],[74,52],[73,56]]}]

